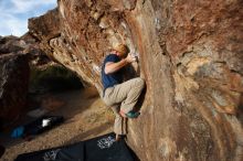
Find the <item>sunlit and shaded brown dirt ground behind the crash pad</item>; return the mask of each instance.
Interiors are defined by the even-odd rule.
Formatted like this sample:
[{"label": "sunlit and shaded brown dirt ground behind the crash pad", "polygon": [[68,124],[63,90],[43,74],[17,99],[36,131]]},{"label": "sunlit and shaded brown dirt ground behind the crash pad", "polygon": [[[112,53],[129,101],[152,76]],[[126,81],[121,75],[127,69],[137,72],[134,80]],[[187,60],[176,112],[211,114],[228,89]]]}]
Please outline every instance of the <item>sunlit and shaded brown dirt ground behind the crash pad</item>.
[{"label": "sunlit and shaded brown dirt ground behind the crash pad", "polygon": [[94,88],[45,94],[40,99],[47,114],[64,116],[65,121],[30,141],[4,142],[7,150],[0,160],[13,161],[20,153],[71,144],[113,131],[114,115]]}]

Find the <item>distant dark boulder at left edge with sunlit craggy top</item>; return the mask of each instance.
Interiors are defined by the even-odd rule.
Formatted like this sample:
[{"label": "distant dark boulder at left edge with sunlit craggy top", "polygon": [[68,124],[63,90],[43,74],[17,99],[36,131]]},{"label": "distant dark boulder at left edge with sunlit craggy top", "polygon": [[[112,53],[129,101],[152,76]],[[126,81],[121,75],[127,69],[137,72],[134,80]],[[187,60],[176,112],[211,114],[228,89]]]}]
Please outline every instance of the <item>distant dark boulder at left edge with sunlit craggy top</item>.
[{"label": "distant dark boulder at left edge with sunlit craggy top", "polygon": [[1,124],[17,120],[28,108],[29,63],[40,65],[46,61],[50,62],[31,35],[0,37]]}]

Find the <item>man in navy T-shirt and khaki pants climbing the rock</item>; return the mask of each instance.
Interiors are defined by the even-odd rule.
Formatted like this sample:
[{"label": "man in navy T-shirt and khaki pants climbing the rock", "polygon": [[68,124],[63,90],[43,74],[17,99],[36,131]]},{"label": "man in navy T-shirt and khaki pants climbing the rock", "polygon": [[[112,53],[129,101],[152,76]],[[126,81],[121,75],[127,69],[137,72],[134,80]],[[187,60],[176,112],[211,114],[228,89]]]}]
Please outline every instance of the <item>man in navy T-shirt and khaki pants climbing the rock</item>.
[{"label": "man in navy T-shirt and khaki pants climbing the rock", "polygon": [[102,66],[103,99],[116,115],[114,125],[116,140],[126,135],[124,118],[137,118],[139,116],[139,112],[133,109],[145,86],[145,80],[137,77],[123,82],[124,66],[135,61],[136,57],[128,54],[127,46],[119,44],[105,57]]}]

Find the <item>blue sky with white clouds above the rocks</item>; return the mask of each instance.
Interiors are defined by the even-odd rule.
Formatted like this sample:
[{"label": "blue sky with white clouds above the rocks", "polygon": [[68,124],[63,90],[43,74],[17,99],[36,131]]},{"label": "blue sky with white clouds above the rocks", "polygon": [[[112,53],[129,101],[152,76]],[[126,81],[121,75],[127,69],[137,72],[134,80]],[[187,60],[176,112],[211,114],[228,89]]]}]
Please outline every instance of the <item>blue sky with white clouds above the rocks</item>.
[{"label": "blue sky with white clouds above the rocks", "polygon": [[28,19],[54,9],[56,0],[0,0],[0,35],[23,35]]}]

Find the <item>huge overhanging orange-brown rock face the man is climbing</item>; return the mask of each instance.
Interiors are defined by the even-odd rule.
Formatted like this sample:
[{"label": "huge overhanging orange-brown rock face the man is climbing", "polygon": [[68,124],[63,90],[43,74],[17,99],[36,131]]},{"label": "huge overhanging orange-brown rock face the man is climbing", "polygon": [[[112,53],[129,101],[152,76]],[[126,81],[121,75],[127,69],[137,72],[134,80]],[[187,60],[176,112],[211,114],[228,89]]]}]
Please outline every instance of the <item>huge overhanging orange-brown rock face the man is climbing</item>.
[{"label": "huge overhanging orange-brown rock face the man is climbing", "polygon": [[57,2],[29,31],[99,93],[109,49],[139,53],[131,76],[147,88],[128,142],[141,161],[243,160],[241,0]]}]

